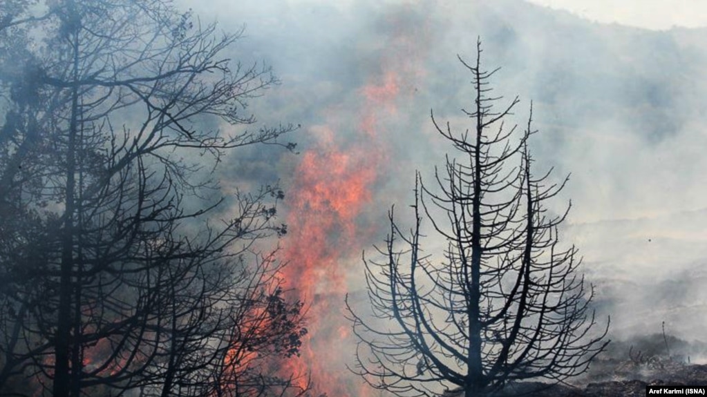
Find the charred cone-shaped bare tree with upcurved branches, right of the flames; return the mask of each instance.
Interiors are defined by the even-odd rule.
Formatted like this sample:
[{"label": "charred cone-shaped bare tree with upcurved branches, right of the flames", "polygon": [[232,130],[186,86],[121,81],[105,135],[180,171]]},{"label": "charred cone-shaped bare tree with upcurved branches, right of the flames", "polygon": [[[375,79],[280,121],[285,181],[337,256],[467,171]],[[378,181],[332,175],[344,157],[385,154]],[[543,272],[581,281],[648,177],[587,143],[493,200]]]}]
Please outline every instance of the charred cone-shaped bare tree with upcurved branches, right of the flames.
[{"label": "charred cone-shaped bare tree with upcurved branches, right of the flames", "polygon": [[[498,70],[460,61],[472,74],[476,100],[464,114],[474,129],[436,130],[457,150],[447,157],[436,186],[419,174],[414,223],[401,230],[389,213],[382,259],[364,256],[372,316],[347,307],[360,339],[360,374],[398,396],[430,396],[440,387],[464,396],[498,391],[511,381],[561,381],[584,372],[608,342],[607,328],[592,333],[592,288],[575,275],[577,249],[562,249],[558,226],[566,212],[549,215],[545,203],[563,189],[550,173],[534,177],[527,129],[504,128],[518,97],[498,110],[489,80]],[[567,208],[567,211],[569,208]],[[427,235],[423,221],[432,232]],[[423,249],[438,236],[440,257]]]}]

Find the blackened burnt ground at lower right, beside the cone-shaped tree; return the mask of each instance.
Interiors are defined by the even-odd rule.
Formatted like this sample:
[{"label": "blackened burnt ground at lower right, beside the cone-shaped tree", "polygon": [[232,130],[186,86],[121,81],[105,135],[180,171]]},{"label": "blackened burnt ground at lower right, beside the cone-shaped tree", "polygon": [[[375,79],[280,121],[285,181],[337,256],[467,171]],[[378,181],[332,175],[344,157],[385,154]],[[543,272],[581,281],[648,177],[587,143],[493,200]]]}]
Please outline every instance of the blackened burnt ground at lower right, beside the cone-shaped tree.
[{"label": "blackened burnt ground at lower right, beside the cone-shaped tree", "polygon": [[[521,382],[508,385],[498,397],[624,397],[645,396],[647,385],[707,386],[707,364],[691,361],[707,357],[707,344],[655,334],[611,343],[583,377],[568,384]],[[446,393],[459,397],[463,393]]]}]

